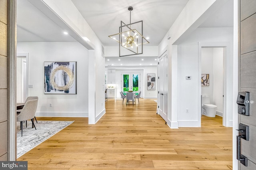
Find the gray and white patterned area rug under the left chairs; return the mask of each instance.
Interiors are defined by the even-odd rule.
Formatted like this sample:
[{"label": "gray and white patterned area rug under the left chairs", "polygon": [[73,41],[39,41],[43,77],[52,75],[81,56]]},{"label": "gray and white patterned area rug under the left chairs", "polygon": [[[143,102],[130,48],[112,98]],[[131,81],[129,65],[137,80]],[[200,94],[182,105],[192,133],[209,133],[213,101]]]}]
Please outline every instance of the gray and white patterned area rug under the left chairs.
[{"label": "gray and white patterned area rug under the left chairs", "polygon": [[23,136],[21,136],[20,122],[17,122],[17,158],[44,142],[60,130],[64,129],[74,121],[35,121],[35,128],[32,122],[23,123]]}]

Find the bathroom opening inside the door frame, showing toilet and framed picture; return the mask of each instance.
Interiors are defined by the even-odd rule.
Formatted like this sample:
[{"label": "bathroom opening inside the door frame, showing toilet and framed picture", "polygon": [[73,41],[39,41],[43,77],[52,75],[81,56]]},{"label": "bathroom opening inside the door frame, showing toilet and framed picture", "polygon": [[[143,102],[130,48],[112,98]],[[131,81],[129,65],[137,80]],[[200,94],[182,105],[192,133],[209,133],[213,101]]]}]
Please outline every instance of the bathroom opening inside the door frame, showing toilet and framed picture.
[{"label": "bathroom opening inside the door frame, showing toilet and framed picture", "polygon": [[[208,117],[224,113],[225,48],[201,49],[201,113]],[[207,106],[206,106],[207,105]],[[203,121],[203,119],[201,120]]]}]

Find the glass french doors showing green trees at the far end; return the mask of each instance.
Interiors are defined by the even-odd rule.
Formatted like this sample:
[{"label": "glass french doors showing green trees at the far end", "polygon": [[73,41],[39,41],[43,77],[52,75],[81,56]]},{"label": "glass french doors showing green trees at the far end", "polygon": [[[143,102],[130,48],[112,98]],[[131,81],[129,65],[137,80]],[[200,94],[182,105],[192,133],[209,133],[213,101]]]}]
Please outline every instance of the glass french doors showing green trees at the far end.
[{"label": "glass french doors showing green trees at the far end", "polygon": [[122,91],[140,91],[140,73],[122,73]]}]

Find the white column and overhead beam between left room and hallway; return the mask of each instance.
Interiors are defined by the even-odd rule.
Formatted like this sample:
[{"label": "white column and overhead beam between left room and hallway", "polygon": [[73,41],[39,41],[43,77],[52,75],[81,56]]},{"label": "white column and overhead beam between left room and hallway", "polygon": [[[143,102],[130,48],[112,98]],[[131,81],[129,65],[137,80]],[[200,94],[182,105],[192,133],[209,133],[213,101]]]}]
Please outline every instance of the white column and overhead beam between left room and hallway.
[{"label": "white column and overhead beam between left room and hallway", "polygon": [[[82,14],[74,6],[72,0],[30,0],[31,3],[37,5],[37,8],[43,12],[47,12],[47,16],[58,23],[63,29],[69,31],[69,34],[78,42],[83,44],[89,51],[89,81],[88,95],[89,102],[89,124],[95,124],[104,113],[105,110],[105,87],[104,87],[104,67],[105,59],[101,56],[102,43],[90,28],[89,24],[82,17]],[[44,3],[42,3],[44,2]],[[40,8],[42,4],[46,4],[47,8]],[[52,11],[54,14],[52,14]],[[49,15],[50,13],[50,15]],[[84,40],[86,37],[88,40]]]}]

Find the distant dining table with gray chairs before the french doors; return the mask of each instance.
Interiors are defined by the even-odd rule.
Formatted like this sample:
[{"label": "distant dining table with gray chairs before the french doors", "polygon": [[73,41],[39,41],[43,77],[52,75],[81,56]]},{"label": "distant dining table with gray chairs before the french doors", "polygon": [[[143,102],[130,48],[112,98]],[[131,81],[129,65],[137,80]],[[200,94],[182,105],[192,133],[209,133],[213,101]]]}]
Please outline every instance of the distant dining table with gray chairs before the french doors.
[{"label": "distant dining table with gray chairs before the french doors", "polygon": [[120,91],[121,98],[123,99],[122,104],[124,104],[124,99],[126,99],[126,105],[132,104],[136,105],[136,99],[138,99],[138,104],[140,104],[140,94],[141,91]]}]

